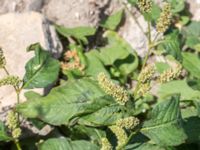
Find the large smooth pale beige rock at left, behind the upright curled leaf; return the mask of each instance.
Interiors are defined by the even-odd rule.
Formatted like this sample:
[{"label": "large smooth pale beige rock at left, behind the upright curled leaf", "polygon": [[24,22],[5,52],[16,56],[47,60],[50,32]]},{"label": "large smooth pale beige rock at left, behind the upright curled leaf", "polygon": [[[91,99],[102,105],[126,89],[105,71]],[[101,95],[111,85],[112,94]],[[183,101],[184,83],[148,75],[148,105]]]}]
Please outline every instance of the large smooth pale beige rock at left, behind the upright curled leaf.
[{"label": "large smooth pale beige rock at left, behind the upright curled leaf", "polygon": [[[61,44],[54,28],[41,14],[8,13],[1,15],[0,20],[0,46],[4,51],[7,60],[6,68],[10,74],[23,78],[25,64],[33,57],[33,52],[26,52],[30,44],[40,42],[44,48],[51,50],[55,57],[59,56],[62,50]],[[0,70],[0,78],[4,76],[6,76],[5,72]],[[0,102],[1,107],[16,102],[16,94],[12,87],[0,87]]]}]

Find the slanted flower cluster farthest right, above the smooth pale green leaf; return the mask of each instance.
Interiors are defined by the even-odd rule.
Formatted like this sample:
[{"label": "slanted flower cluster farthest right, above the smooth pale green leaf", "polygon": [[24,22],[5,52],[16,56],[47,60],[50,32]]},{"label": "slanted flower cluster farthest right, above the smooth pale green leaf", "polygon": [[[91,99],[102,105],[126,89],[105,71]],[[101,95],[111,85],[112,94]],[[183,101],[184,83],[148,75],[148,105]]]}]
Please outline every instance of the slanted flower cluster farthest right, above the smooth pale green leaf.
[{"label": "slanted flower cluster farthest right, above the smooth pale green leaf", "polygon": [[166,83],[166,82],[172,81],[172,80],[178,78],[180,76],[181,72],[182,72],[182,66],[180,64],[177,64],[175,69],[170,68],[170,69],[164,71],[160,75],[158,80],[160,83]]}]

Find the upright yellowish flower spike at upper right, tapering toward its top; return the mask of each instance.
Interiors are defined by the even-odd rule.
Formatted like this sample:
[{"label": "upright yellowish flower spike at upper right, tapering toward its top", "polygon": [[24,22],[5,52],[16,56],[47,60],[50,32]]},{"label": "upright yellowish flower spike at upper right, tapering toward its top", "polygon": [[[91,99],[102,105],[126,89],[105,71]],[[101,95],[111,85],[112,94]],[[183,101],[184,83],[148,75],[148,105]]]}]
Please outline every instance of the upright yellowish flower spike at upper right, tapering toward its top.
[{"label": "upright yellowish flower spike at upper right, tapering toward its top", "polygon": [[157,21],[156,28],[159,33],[164,33],[168,29],[171,23],[171,18],[172,18],[171,5],[169,3],[165,3],[163,6],[163,10],[160,14],[160,17]]}]

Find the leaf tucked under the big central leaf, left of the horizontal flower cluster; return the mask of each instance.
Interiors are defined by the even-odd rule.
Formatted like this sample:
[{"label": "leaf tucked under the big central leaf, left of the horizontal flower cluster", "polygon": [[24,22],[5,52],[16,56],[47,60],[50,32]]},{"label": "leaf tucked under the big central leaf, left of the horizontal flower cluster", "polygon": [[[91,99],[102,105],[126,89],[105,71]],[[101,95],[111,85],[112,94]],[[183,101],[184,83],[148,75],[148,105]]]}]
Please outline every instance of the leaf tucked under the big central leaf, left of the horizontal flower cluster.
[{"label": "leaf tucked under the big central leaf, left of the horizontal flower cluster", "polygon": [[120,106],[107,106],[92,114],[83,116],[80,119],[80,124],[90,126],[113,125],[122,117],[123,114],[120,113]]}]

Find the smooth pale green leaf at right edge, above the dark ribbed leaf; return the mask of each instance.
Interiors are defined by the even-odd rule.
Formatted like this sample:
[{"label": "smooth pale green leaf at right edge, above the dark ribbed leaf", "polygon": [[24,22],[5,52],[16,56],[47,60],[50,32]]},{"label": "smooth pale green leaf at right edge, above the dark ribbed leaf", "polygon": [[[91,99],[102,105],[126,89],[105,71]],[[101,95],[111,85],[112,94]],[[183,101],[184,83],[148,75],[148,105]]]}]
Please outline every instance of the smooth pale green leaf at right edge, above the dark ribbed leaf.
[{"label": "smooth pale green leaf at right edge, above the dark ribbed leaf", "polygon": [[175,80],[161,84],[158,90],[160,98],[165,98],[174,94],[180,94],[181,100],[193,100],[200,97],[200,91],[193,90],[186,80]]}]

